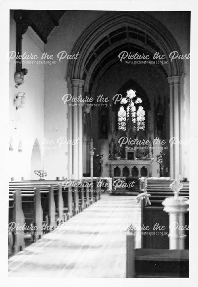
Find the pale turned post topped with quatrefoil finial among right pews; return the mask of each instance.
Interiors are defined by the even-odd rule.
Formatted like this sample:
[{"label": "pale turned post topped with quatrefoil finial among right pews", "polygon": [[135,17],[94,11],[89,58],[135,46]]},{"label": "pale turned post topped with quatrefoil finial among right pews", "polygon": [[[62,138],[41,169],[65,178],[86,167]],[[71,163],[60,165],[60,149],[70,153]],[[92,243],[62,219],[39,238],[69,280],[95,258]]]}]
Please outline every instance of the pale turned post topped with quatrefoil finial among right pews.
[{"label": "pale turned post topped with quatrefoil finial among right pews", "polygon": [[176,180],[170,185],[174,191],[174,197],[167,197],[162,205],[164,211],[169,214],[169,249],[185,249],[185,231],[180,226],[185,226],[184,214],[189,211],[189,200],[179,197],[179,191],[183,187],[180,181]]}]

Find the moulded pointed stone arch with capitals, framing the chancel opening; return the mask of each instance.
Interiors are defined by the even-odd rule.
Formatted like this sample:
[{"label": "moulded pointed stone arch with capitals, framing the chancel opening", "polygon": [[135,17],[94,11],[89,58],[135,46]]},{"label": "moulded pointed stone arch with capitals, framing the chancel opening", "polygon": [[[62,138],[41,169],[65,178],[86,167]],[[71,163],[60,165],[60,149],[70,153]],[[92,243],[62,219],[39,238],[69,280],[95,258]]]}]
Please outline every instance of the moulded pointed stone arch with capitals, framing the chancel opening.
[{"label": "moulded pointed stone arch with capitals, framing the chancel opening", "polygon": [[[83,79],[84,66],[91,49],[93,49],[95,45],[103,39],[103,37],[122,27],[130,27],[136,30],[139,29],[139,31],[144,31],[158,44],[159,50],[163,51],[166,59],[168,59],[168,66],[170,69],[166,71],[168,74],[167,76],[172,77],[174,75],[182,75],[183,61],[175,59],[175,61],[171,62],[168,57],[172,51],[176,50],[180,53],[179,46],[170,32],[160,22],[147,13],[141,11],[111,11],[91,24],[76,42],[72,54],[79,52],[79,58],[78,61],[69,60],[68,77],[70,77],[70,79]],[[121,45],[122,43],[123,41],[120,41],[117,45]],[[150,53],[153,53],[154,51],[152,46],[149,47],[149,45],[147,45],[146,47],[145,44],[139,43],[138,41],[133,41],[132,44],[139,44],[142,48],[146,48]],[[109,51],[110,48],[104,50],[101,57],[104,57],[104,55]],[[90,68],[91,74],[97,65],[98,61],[93,61]],[[112,65],[111,61],[107,63],[108,67],[110,65]],[[87,91],[87,85],[89,85],[89,82],[89,80],[85,81],[85,91]]]}]

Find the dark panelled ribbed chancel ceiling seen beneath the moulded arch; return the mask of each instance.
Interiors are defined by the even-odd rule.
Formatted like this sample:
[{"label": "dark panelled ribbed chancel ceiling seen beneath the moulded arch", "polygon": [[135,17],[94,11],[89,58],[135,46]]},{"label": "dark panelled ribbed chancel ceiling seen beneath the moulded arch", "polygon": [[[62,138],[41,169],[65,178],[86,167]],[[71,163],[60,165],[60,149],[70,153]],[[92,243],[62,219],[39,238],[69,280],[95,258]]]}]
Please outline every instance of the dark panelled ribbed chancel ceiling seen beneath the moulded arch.
[{"label": "dark panelled ribbed chancel ceiling seen beneath the moulded arch", "polygon": [[[128,54],[149,55],[152,59],[153,54],[159,52],[163,54],[157,43],[144,31],[125,26],[110,32],[102,40],[100,40],[92,49],[87,61],[84,65],[83,80],[91,72],[90,90],[94,84],[97,76],[114,65],[117,61],[120,61],[118,55],[122,51],[127,51]],[[127,61],[127,59],[126,59]],[[91,67],[95,66],[94,70]],[[168,77],[168,67],[165,65],[158,65],[158,69],[161,69],[163,73]]]}]

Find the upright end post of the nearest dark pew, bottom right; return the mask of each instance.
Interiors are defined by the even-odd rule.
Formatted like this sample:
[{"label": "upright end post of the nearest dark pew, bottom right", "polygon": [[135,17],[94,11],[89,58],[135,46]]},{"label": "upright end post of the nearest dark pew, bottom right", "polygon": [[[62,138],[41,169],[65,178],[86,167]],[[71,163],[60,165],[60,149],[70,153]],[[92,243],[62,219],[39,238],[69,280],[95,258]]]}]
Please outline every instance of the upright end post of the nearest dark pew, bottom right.
[{"label": "upright end post of the nearest dark pew, bottom right", "polygon": [[135,277],[135,227],[126,230],[126,278]]}]

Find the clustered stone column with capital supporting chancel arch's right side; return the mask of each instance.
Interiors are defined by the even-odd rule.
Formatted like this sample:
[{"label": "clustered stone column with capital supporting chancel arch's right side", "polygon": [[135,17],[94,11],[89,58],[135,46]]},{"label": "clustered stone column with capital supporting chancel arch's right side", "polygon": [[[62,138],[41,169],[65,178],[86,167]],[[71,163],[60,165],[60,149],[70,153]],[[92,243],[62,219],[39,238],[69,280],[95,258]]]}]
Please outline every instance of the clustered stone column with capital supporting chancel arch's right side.
[{"label": "clustered stone column with capital supporting chancel arch's right side", "polygon": [[[170,88],[170,138],[177,137],[180,140],[179,121],[179,83],[180,76],[168,77]],[[180,145],[170,147],[170,177],[178,179],[180,173]]]}]

